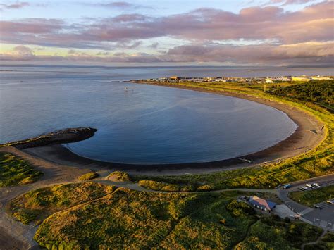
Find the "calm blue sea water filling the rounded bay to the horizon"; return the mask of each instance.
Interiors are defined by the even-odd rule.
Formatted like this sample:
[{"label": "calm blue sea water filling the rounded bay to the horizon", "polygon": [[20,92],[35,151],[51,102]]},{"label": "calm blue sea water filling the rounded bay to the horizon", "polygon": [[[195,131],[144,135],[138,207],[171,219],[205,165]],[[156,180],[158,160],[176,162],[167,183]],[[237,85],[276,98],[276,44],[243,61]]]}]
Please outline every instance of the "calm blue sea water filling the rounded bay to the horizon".
[{"label": "calm blue sea water filling the rounded bay to the horizon", "polygon": [[66,146],[81,156],[121,163],[233,158],[280,142],[296,125],[285,113],[252,101],[111,81],[255,71],[258,76],[302,74],[257,68],[1,69],[16,71],[0,73],[0,143],[89,126],[98,129],[94,137]]}]

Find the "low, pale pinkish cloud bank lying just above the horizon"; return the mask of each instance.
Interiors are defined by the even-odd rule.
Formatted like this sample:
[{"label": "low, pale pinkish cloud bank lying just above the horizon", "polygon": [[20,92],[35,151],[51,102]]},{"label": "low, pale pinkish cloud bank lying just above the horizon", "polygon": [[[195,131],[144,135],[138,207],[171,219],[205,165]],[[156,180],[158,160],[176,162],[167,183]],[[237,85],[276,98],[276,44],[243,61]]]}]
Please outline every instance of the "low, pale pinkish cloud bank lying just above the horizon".
[{"label": "low, pale pinkish cloud bank lying just above the horizon", "polygon": [[[25,49],[18,49],[25,51]],[[314,64],[334,63],[334,42],[306,42],[300,44],[233,46],[223,44],[188,44],[175,46],[161,54],[118,52],[89,55],[68,51],[68,56],[35,56],[33,54],[1,54],[0,60],[89,61],[101,63],[192,63],[220,62],[237,64]]]}]

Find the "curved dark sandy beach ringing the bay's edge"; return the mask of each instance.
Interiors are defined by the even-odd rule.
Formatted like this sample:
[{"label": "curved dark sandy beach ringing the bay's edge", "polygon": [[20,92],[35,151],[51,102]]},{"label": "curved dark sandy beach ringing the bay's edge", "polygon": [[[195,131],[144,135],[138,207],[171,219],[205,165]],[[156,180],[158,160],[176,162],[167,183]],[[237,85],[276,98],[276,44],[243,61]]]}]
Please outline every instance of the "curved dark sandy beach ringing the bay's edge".
[{"label": "curved dark sandy beach ringing the bay's edge", "polygon": [[[143,84],[143,83],[140,83]],[[149,84],[149,83],[144,83]],[[159,84],[149,84],[159,85]],[[221,94],[224,96],[233,96],[237,98],[247,99],[249,101],[255,101],[259,104],[271,106],[273,108],[282,111],[297,124],[295,132],[278,144],[271,146],[262,151],[258,151],[253,154],[247,154],[245,156],[239,156],[237,158],[230,158],[222,161],[213,161],[207,163],[173,163],[173,164],[126,164],[126,163],[109,163],[103,161],[95,161],[89,158],[78,156],[74,154],[66,147],[55,144],[51,146],[41,146],[31,149],[24,149],[28,154],[44,158],[47,161],[51,161],[63,165],[73,166],[87,166],[87,168],[109,168],[112,170],[124,170],[131,174],[136,175],[183,175],[187,173],[211,173],[221,170],[232,170],[236,168],[246,168],[259,163],[281,161],[285,158],[297,156],[303,154],[306,151],[317,146],[323,139],[323,134],[320,133],[322,124],[314,116],[308,113],[289,106],[287,104],[280,104],[277,101],[271,101],[268,99],[261,99],[256,96],[239,94],[235,92],[219,92],[211,91],[208,89],[202,89],[197,87],[186,87],[181,85],[166,85],[160,84],[161,87],[174,87],[180,89],[194,90],[197,92],[206,92],[211,94]],[[315,132],[311,132],[314,130]],[[319,132],[319,133],[318,133]],[[247,163],[240,160],[240,158],[246,158],[252,161]]]}]

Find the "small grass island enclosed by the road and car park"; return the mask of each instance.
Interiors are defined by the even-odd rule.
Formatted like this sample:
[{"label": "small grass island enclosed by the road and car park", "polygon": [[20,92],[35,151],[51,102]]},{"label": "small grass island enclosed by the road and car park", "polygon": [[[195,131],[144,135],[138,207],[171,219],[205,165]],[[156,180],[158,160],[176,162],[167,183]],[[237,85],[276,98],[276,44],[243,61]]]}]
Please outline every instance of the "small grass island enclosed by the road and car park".
[{"label": "small grass island enclosed by the road and car park", "polygon": [[291,192],[290,198],[300,204],[312,206],[313,204],[317,204],[321,201],[326,201],[330,198],[334,198],[334,185],[328,187],[321,187],[319,189],[314,189],[310,191]]}]

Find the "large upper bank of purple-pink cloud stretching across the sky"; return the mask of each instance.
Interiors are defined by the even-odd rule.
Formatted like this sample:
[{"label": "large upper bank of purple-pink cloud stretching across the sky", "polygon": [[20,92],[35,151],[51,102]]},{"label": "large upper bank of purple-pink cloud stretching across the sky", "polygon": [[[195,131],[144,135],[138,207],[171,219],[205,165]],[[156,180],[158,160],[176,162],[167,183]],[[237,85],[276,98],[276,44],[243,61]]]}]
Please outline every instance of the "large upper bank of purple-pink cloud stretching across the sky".
[{"label": "large upper bank of purple-pink cloud stretching across the sky", "polygon": [[271,39],[285,44],[332,40],[333,4],[323,2],[296,12],[286,12],[276,6],[244,8],[237,14],[199,8],[161,18],[128,14],[88,24],[35,18],[1,21],[0,25],[1,42],[79,49],[108,49],[111,42],[154,37],[199,42]]}]

